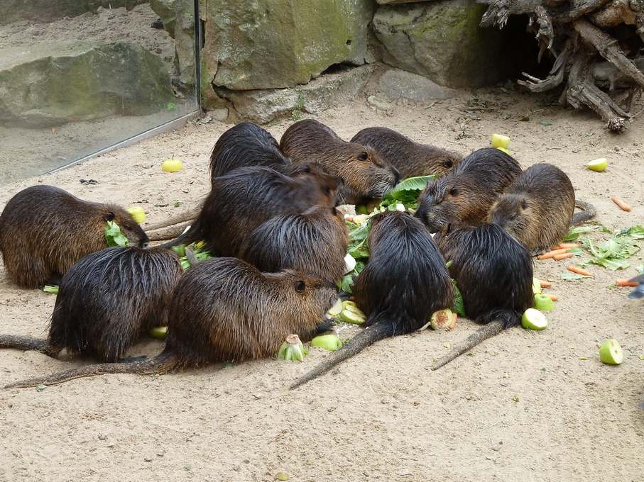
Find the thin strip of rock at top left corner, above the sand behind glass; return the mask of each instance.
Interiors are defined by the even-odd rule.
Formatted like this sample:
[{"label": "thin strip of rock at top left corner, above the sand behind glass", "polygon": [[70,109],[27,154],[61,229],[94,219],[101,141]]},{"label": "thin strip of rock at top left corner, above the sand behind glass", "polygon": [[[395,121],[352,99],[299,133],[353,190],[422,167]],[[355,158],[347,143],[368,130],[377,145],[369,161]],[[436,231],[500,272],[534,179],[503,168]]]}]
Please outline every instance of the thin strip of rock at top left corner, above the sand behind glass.
[{"label": "thin strip of rock at top left corner, above the sand behind glass", "polygon": [[53,22],[63,17],[75,17],[85,12],[96,13],[99,6],[104,9],[128,10],[149,0],[1,0],[0,25],[31,20]]}]

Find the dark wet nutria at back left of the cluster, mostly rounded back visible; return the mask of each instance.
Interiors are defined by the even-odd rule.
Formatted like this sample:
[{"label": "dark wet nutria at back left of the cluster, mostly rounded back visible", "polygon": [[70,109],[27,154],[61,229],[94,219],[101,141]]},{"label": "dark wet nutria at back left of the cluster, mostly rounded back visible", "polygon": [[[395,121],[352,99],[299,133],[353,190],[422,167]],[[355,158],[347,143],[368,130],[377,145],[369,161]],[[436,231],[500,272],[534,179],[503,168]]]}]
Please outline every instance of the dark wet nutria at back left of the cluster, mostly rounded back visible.
[{"label": "dark wet nutria at back left of the cluster, mostly rounded back visible", "polygon": [[215,142],[210,154],[210,176],[214,179],[238,167],[275,167],[290,163],[268,130],[242,122],[229,128]]}]

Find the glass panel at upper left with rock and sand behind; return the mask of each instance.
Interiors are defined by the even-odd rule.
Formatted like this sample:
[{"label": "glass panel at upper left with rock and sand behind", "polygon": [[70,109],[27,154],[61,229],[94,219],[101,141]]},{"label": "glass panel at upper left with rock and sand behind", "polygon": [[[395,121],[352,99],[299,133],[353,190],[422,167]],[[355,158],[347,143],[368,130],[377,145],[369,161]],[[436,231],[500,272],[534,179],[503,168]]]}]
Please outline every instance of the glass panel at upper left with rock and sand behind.
[{"label": "glass panel at upper left with rock and sand behind", "polygon": [[[158,13],[149,1],[123,0],[126,6],[113,9],[107,2],[73,2],[94,6],[75,16],[60,10],[72,2],[6,1],[0,6],[0,184],[175,128],[199,110],[191,0],[153,0]],[[107,8],[96,9],[101,3]],[[172,11],[179,8],[184,12]]]}]

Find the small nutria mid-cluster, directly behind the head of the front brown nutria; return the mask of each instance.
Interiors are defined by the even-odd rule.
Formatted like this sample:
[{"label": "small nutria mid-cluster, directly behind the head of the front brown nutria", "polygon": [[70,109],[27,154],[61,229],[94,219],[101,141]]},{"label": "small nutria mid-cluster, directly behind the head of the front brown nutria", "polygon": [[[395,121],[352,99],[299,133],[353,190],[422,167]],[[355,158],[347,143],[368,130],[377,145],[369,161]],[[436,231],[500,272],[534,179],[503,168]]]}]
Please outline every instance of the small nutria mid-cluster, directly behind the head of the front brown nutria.
[{"label": "small nutria mid-cluster, directly behind the head of the front brown nutria", "polygon": [[339,281],[346,271],[349,230],[336,208],[313,206],[263,223],[243,241],[239,258],[260,271],[293,269]]}]

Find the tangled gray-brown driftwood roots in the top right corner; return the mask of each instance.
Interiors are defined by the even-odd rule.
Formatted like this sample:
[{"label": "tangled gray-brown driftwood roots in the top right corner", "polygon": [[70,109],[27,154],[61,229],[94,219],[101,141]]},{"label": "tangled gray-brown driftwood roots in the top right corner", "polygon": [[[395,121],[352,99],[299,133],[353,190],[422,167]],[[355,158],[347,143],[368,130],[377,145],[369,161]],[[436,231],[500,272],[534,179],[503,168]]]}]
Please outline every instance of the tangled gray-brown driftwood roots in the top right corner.
[{"label": "tangled gray-brown driftwood roots in the top right corner", "polygon": [[[545,79],[523,73],[518,83],[533,92],[562,84],[561,102],[587,106],[606,127],[623,132],[631,101],[644,87],[644,0],[478,0],[488,6],[481,26],[503,27],[509,16],[528,16],[540,46],[538,60],[555,61]],[[607,30],[621,28],[620,37]],[[612,30],[611,30],[612,31]],[[620,105],[621,104],[621,105]]]}]

